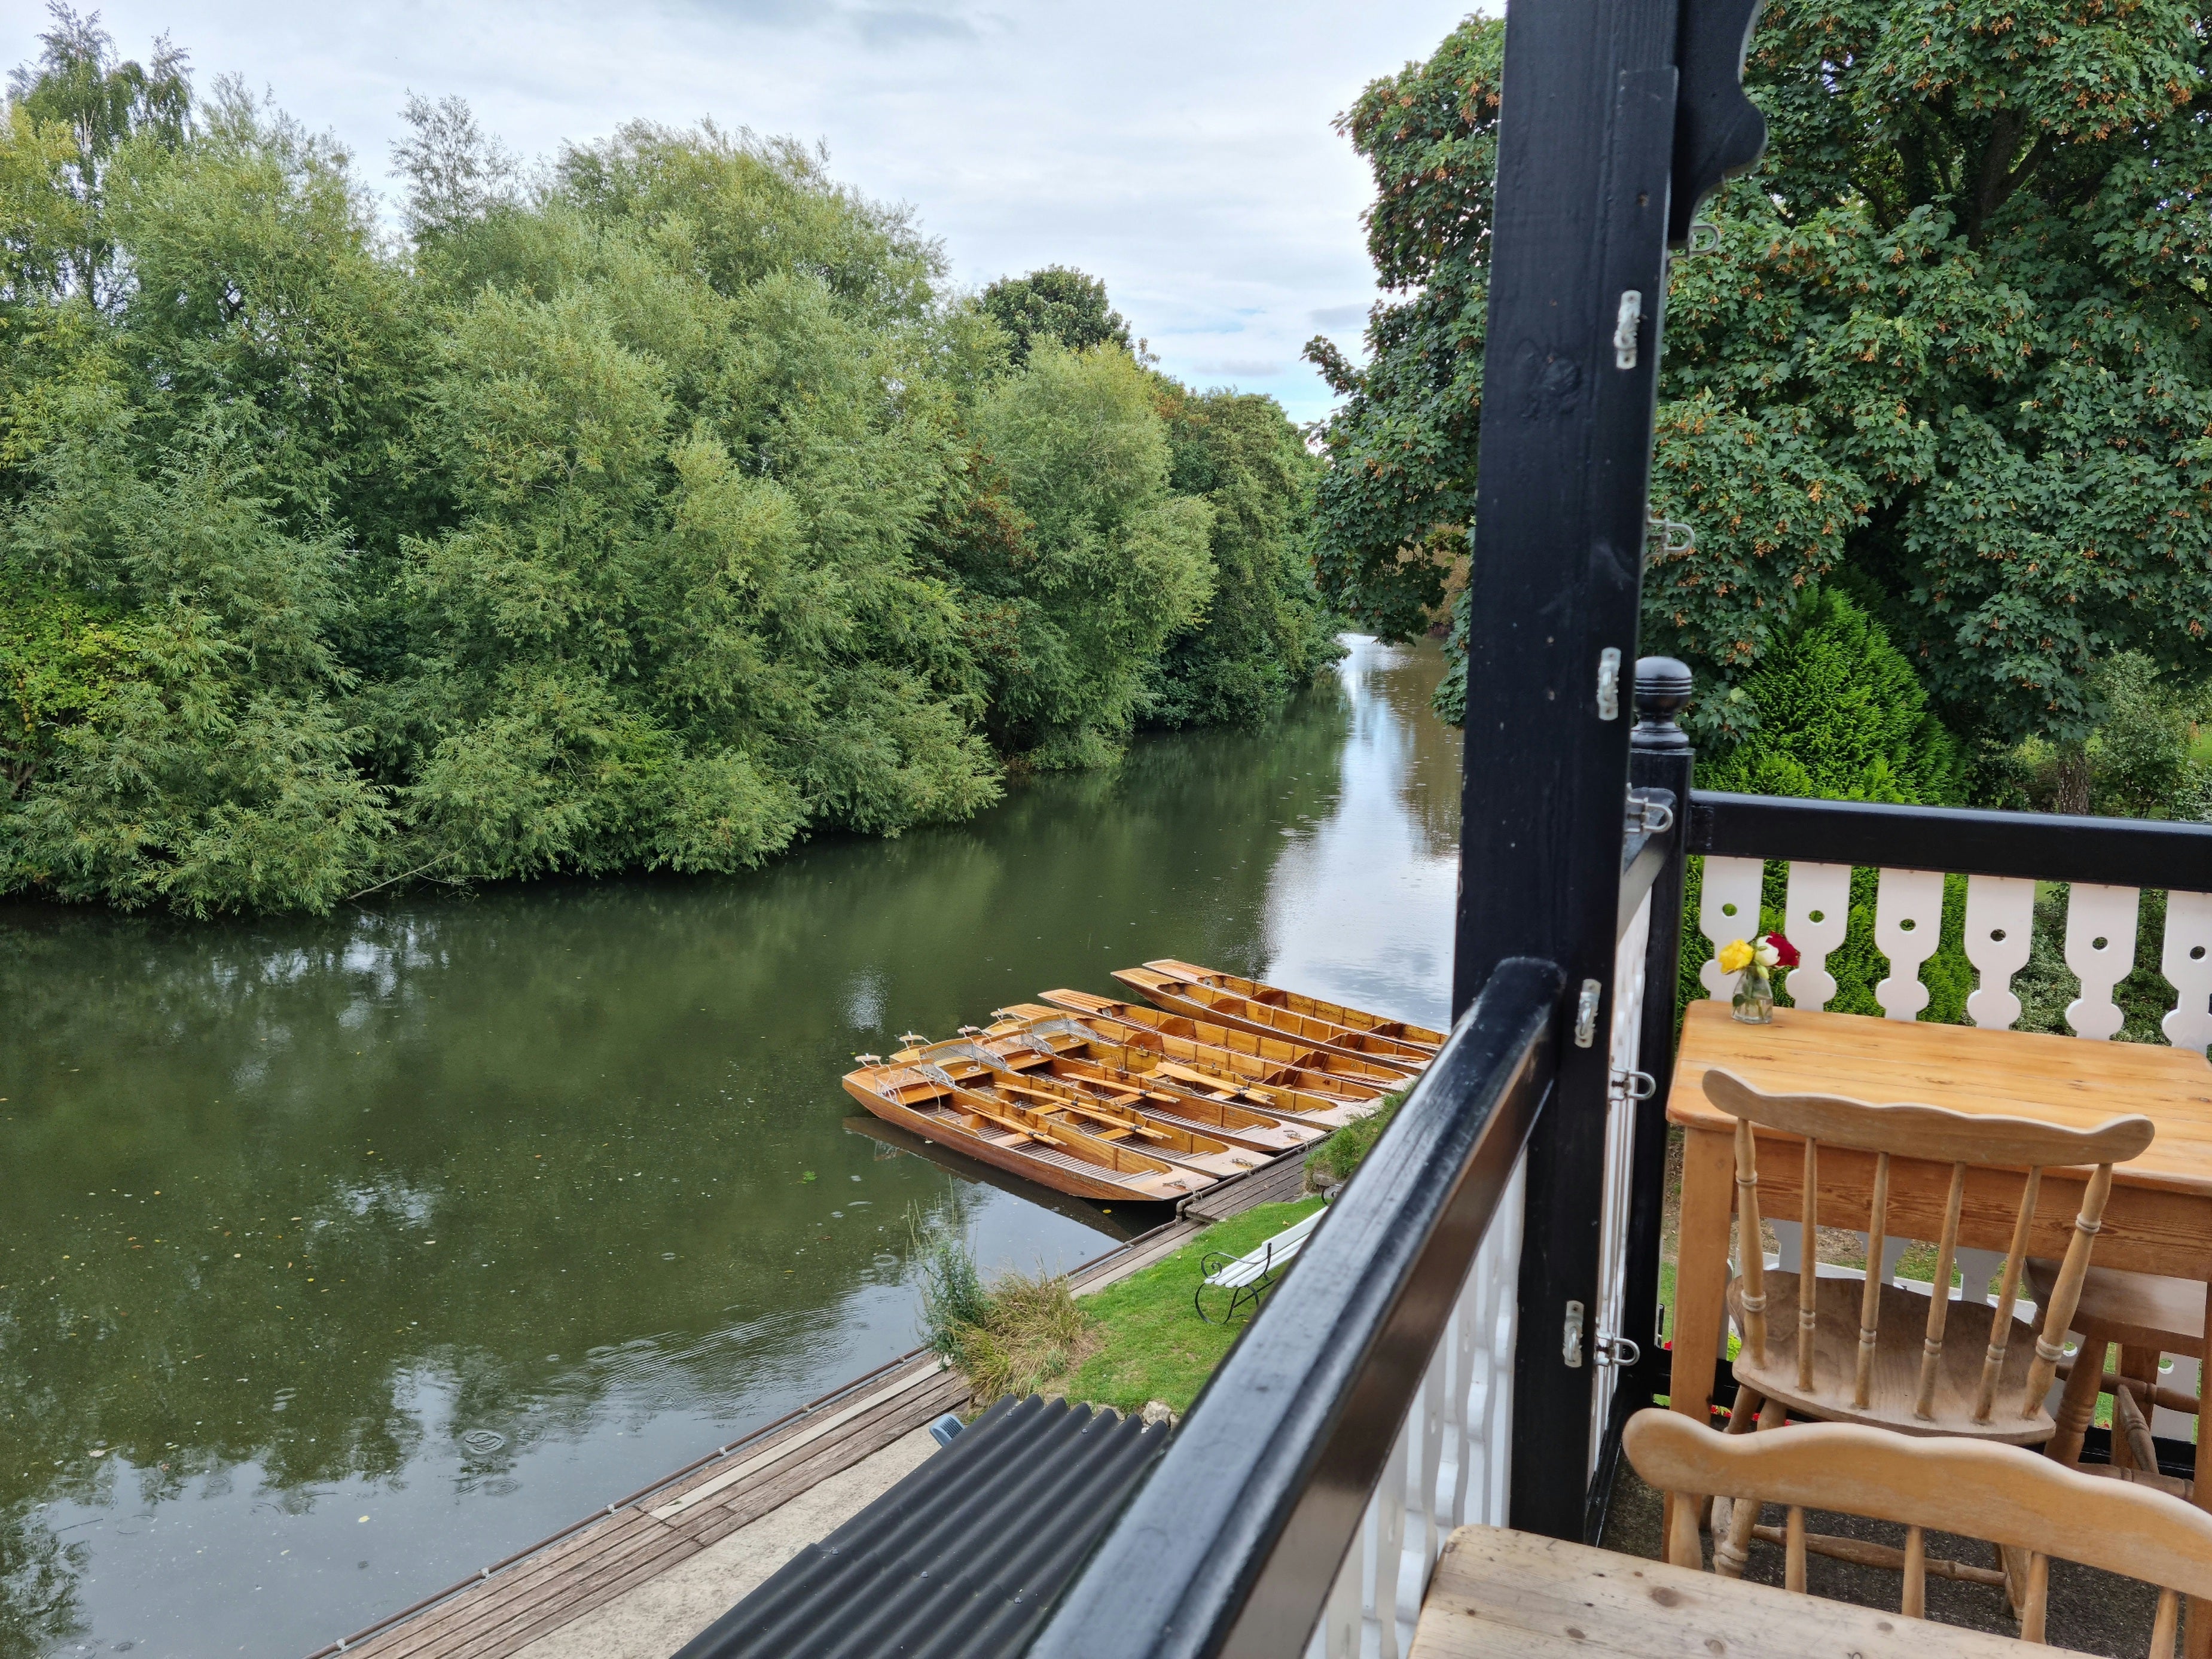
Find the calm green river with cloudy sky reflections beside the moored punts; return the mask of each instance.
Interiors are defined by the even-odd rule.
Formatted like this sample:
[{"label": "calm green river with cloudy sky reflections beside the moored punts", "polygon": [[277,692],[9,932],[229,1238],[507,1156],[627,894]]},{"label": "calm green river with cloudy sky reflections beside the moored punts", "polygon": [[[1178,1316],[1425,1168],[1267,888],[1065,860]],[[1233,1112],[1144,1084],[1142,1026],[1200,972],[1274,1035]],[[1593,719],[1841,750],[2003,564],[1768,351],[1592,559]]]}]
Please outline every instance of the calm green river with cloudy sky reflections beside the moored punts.
[{"label": "calm green river with cloudy sky reflections beside the moored punts", "polygon": [[1157,956],[1442,1024],[1438,672],[743,878],[0,907],[0,1659],[294,1659],[914,1347],[911,1214],[1152,1219],[869,1133],[854,1051]]}]

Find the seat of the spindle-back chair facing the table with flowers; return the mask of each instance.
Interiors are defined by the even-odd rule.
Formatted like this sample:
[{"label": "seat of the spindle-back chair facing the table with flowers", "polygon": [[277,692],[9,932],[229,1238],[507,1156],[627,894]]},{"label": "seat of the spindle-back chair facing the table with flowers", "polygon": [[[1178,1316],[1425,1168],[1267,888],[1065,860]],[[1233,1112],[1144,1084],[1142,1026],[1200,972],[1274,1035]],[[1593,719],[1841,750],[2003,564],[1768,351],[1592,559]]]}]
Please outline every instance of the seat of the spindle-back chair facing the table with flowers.
[{"label": "seat of the spindle-back chair facing the table with flowers", "polygon": [[[1874,1429],[1898,1429],[1900,1433],[1953,1433],[1975,1440],[2000,1440],[2015,1447],[2033,1447],[2048,1440],[2057,1425],[2037,1400],[2035,1416],[2020,1416],[2028,1387],[2028,1367],[2035,1363],[2035,1329],[2024,1321],[2011,1321],[2004,1367],[1997,1376],[1997,1402],[1989,1422],[1973,1420],[1973,1402],[1982,1387],[1982,1358],[1989,1349],[1989,1332],[1997,1310],[1989,1303],[1953,1301],[1944,1327],[1942,1363],[1936,1371],[1933,1416],[1913,1416],[1913,1400],[1920,1394],[1920,1345],[1927,1334],[1929,1298],[1896,1285],[1882,1285],[1878,1332],[1874,1349],[1874,1376],[1867,1389],[1867,1405],[1851,1405],[1851,1385],[1858,1376],[1858,1301],[1865,1281],[1816,1279],[1818,1301],[1814,1312],[1812,1389],[1796,1385],[1796,1327],[1798,1327],[1798,1276],[1792,1272],[1767,1272],[1767,1352],[1752,1354],[1745,1347],[1736,1356],[1736,1383],[1759,1389],[1770,1400],[1781,1400],[1790,1411],[1829,1422],[1865,1422]],[[1728,1312],[1743,1329],[1743,1281],[1728,1285]]]}]

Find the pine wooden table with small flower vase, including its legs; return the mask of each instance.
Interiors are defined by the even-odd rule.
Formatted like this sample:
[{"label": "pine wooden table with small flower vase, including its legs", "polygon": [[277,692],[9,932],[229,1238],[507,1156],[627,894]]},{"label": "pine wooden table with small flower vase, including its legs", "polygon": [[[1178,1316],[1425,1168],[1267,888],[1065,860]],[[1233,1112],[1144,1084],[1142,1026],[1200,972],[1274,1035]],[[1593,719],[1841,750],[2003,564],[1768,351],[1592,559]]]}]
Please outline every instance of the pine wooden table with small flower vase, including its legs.
[{"label": "pine wooden table with small flower vase, including its legs", "polygon": [[[1770,1093],[1849,1095],[1871,1104],[1920,1102],[1960,1113],[2006,1113],[2088,1128],[2124,1113],[2159,1126],[2143,1157],[2112,1170],[2112,1199],[2095,1263],[2212,1281],[2212,1066],[2194,1048],[2088,1042],[2024,1031],[1982,1031],[1856,1013],[1776,1009],[1774,1024],[1747,1026],[1725,1002],[1692,1002],[1674,1060],[1668,1121],[1683,1128],[1681,1245],[1674,1270],[1672,1407],[1708,1420],[1721,1356],[1728,1241],[1734,1214],[1736,1119],[1705,1099],[1708,1066],[1723,1066]],[[1759,1208],[1794,1221],[1803,1208],[1803,1161],[1787,1135],[1759,1135],[1776,1155],[1759,1157]],[[2048,1170],[2028,1252],[2066,1254],[2086,1170]],[[1949,1197],[1944,1164],[1893,1159],[1891,1237],[1936,1239]],[[1960,1245],[2004,1252],[2020,1214],[2024,1175],[1975,1170],[1966,1181]],[[1820,1148],[1820,1225],[1865,1232],[1874,1157]],[[1785,1263],[1787,1265],[1787,1263]],[[2212,1455],[2197,1449],[2199,1504],[2212,1509]]]}]

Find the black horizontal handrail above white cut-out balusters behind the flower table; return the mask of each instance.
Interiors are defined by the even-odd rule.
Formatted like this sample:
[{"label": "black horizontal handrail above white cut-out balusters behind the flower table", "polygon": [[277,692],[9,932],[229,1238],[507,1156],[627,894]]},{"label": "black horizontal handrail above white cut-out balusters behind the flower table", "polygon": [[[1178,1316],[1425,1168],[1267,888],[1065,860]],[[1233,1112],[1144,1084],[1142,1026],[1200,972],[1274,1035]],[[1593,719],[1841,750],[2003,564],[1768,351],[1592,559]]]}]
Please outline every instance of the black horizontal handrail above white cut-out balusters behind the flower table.
[{"label": "black horizontal handrail above white cut-out balusters behind the flower table", "polygon": [[1690,852],[2212,891],[2212,823],[1692,790]]}]

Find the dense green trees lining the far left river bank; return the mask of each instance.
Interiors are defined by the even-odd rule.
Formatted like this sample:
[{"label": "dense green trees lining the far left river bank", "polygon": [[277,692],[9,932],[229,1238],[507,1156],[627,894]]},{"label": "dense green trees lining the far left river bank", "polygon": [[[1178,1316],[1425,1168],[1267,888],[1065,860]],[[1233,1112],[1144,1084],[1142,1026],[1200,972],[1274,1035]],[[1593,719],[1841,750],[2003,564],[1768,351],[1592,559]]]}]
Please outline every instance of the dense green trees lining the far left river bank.
[{"label": "dense green trees lining the far left river bank", "polygon": [[1334,650],[1283,411],[1079,272],[960,299],[714,126],[524,188],[458,100],[394,243],[330,139],[55,20],[0,124],[0,887],[728,872]]}]

